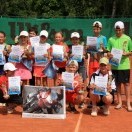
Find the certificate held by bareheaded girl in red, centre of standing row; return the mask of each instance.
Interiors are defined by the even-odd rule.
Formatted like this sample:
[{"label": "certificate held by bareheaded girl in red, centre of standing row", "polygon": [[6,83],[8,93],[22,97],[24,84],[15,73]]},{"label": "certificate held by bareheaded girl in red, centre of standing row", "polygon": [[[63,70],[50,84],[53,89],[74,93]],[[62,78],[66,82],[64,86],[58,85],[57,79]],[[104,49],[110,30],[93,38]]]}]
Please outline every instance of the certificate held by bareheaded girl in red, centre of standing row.
[{"label": "certificate held by bareheaded girl in red, centre of standing row", "polygon": [[63,61],[64,60],[64,51],[63,51],[63,46],[61,45],[57,45],[57,44],[53,44],[52,46],[53,48],[53,60],[55,61]]}]

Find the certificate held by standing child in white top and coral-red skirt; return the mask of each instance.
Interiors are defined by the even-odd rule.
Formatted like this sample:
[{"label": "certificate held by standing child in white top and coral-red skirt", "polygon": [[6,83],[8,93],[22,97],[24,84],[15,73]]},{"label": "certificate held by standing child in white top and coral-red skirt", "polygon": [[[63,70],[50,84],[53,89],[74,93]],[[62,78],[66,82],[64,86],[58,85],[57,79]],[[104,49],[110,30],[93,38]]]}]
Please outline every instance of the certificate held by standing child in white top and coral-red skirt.
[{"label": "certificate held by standing child in white top and coral-red skirt", "polygon": [[35,46],[35,63],[36,65],[38,64],[46,64],[48,59],[44,57],[45,54],[47,53],[47,48],[46,46]]}]

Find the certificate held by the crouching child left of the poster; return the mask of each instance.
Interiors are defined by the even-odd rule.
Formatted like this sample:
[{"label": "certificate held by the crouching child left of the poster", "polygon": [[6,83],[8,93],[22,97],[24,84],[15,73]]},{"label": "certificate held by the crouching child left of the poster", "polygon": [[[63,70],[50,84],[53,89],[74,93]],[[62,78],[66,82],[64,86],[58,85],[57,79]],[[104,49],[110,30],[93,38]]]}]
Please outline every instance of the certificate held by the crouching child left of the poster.
[{"label": "certificate held by the crouching child left of the poster", "polygon": [[20,86],[20,76],[8,77],[8,94],[20,94],[21,86]]}]

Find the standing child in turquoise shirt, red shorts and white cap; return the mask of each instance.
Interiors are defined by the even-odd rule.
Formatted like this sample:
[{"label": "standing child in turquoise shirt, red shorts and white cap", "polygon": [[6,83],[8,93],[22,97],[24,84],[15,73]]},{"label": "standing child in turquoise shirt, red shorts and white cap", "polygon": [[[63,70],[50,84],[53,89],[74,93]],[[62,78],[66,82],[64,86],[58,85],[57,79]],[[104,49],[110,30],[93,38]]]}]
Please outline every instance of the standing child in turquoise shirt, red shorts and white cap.
[{"label": "standing child in turquoise shirt, red shorts and white cap", "polygon": [[[88,53],[90,54],[89,76],[91,76],[91,74],[99,68],[98,62],[100,58],[103,57],[104,53],[106,52],[107,39],[105,36],[101,35],[101,30],[102,30],[102,23],[99,21],[95,21],[93,23],[94,37],[87,37],[87,50],[88,50]],[[92,43],[93,38],[96,38],[95,40],[96,51],[89,51],[89,45],[90,43]]]}]

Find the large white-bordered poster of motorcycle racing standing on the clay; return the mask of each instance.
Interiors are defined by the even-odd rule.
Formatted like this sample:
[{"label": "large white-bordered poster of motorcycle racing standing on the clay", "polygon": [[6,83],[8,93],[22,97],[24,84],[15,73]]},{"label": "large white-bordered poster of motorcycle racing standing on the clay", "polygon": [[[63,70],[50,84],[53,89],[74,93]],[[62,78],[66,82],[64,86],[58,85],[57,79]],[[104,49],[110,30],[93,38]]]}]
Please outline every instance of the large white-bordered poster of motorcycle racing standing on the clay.
[{"label": "large white-bordered poster of motorcycle racing standing on the clay", "polygon": [[23,118],[65,119],[65,87],[26,85],[23,95]]}]

